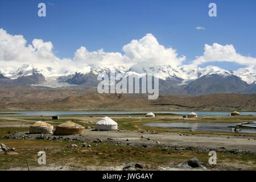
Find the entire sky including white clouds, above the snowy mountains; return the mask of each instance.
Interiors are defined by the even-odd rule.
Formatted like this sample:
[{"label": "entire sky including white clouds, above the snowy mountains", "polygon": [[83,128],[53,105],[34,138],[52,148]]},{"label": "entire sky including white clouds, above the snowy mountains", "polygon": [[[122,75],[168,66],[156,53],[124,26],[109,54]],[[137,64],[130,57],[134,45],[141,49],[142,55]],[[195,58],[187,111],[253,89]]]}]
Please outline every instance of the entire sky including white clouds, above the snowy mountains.
[{"label": "entire sky including white clouds, above the snowy mountains", "polygon": [[[211,2],[217,17],[208,15]],[[236,70],[256,65],[255,19],[255,0],[1,0],[0,68],[64,60]]]}]

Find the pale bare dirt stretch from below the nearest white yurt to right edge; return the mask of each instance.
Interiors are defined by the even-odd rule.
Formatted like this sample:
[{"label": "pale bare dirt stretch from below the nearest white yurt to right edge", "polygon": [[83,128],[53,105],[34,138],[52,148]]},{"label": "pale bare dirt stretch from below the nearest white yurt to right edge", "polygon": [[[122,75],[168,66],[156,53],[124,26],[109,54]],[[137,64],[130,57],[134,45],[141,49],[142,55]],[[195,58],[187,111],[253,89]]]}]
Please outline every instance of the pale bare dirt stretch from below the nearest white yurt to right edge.
[{"label": "pale bare dirt stretch from below the nearest white yurt to right edge", "polygon": [[[143,138],[142,138],[143,136]],[[90,139],[107,139],[111,138],[116,141],[126,141],[131,144],[169,144],[170,146],[183,146],[195,148],[212,148],[227,150],[243,150],[256,153],[256,138],[253,137],[235,137],[225,135],[191,135],[178,133],[139,133],[137,131],[90,131],[86,130],[85,138]],[[150,140],[149,140],[149,139]]]}]

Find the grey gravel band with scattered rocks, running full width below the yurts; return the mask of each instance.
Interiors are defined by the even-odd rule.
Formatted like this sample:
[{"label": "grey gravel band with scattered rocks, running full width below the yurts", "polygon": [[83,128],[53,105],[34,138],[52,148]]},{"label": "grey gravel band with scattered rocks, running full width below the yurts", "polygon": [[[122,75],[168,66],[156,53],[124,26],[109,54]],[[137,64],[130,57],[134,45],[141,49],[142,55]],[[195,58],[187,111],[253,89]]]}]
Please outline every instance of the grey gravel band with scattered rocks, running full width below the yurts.
[{"label": "grey gravel band with scattered rocks, running full width below the yurts", "polygon": [[[113,137],[114,136],[114,137]],[[197,150],[208,152],[230,152],[233,154],[256,155],[256,137],[237,137],[224,135],[201,135],[182,133],[156,133],[155,131],[94,131],[87,129],[81,135],[55,136],[49,134],[15,133],[6,135],[5,139],[28,140],[67,140],[70,142],[108,142],[117,145],[174,150]]]}]

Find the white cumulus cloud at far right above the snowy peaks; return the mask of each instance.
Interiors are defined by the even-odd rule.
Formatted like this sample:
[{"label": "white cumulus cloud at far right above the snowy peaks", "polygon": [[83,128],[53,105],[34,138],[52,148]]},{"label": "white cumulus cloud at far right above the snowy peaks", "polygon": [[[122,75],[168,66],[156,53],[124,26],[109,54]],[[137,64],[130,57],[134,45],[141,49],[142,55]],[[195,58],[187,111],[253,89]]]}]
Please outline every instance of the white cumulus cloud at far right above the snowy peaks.
[{"label": "white cumulus cloud at far right above the snowy peaks", "polygon": [[241,65],[256,65],[256,58],[240,55],[232,44],[222,46],[217,43],[214,43],[212,46],[205,44],[204,55],[197,57],[197,59],[192,62],[192,65],[200,65],[212,61],[228,61]]}]

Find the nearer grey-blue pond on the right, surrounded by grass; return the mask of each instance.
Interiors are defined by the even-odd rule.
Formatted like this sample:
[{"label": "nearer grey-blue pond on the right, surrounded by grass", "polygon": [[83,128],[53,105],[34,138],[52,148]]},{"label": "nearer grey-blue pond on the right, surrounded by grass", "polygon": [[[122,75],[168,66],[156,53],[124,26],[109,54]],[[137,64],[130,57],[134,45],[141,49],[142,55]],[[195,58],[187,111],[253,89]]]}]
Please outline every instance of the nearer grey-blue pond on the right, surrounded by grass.
[{"label": "nearer grey-blue pond on the right, surrounded by grass", "polygon": [[[255,123],[256,124],[256,123]],[[164,127],[169,129],[182,129],[188,131],[211,131],[211,132],[224,132],[235,133],[232,130],[236,127],[237,123],[144,123],[144,126],[150,127]],[[239,133],[256,134],[256,129],[241,129]]]}]

